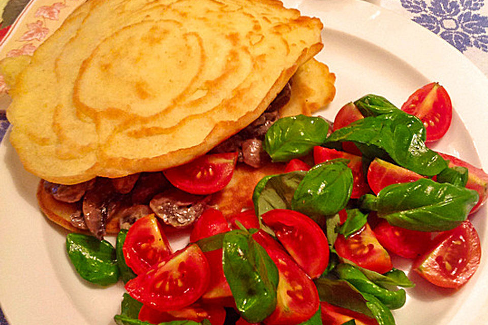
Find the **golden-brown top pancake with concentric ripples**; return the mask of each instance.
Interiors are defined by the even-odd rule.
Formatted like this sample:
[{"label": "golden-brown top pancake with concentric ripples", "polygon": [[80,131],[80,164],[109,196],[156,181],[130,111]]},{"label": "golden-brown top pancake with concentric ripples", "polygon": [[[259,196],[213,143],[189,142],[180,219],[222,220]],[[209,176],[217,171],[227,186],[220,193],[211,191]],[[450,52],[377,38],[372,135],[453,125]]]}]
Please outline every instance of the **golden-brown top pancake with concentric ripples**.
[{"label": "golden-brown top pancake with concentric ripples", "polygon": [[256,119],[321,29],[273,0],[90,0],[3,64],[11,143],[63,184],[184,164]]}]

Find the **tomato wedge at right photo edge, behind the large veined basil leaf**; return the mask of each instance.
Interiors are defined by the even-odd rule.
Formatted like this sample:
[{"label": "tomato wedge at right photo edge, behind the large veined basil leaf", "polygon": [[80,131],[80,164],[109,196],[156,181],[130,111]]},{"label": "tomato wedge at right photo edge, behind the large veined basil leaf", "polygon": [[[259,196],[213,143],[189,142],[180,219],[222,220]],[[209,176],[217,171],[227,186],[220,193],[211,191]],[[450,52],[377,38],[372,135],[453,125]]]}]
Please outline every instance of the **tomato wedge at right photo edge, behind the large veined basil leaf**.
[{"label": "tomato wedge at right photo edge, behind the large veined basil leaf", "polygon": [[476,168],[466,161],[451,156],[446,153],[439,154],[446,160],[449,160],[449,167],[460,166],[468,169],[468,182],[466,188],[474,189],[478,192],[478,203],[471,209],[470,214],[478,211],[481,205],[486,202],[488,198],[488,174],[486,174],[481,168]]}]

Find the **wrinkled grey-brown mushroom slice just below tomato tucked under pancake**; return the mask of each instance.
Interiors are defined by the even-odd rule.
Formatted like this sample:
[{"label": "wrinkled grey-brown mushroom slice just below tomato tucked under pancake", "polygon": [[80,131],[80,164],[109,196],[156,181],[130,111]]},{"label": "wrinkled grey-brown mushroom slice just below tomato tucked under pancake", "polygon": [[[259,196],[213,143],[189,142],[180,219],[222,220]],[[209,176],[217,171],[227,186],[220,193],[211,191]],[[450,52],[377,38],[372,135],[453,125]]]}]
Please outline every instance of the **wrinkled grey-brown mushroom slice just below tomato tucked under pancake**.
[{"label": "wrinkled grey-brown mushroom slice just below tomato tucked under pancake", "polygon": [[202,214],[210,196],[199,196],[176,188],[157,194],[149,207],[165,224],[187,228]]}]

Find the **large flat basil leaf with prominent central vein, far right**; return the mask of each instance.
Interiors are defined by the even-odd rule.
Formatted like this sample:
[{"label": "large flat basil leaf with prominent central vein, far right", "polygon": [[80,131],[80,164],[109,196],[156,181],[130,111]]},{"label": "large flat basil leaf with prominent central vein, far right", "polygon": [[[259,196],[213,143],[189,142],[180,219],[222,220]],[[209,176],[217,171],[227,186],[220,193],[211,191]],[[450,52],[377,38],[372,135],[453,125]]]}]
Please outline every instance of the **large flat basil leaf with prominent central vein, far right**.
[{"label": "large flat basil leaf with prominent central vein, far right", "polygon": [[478,193],[422,178],[386,186],[376,200],[378,216],[401,228],[440,232],[456,228],[478,202]]}]

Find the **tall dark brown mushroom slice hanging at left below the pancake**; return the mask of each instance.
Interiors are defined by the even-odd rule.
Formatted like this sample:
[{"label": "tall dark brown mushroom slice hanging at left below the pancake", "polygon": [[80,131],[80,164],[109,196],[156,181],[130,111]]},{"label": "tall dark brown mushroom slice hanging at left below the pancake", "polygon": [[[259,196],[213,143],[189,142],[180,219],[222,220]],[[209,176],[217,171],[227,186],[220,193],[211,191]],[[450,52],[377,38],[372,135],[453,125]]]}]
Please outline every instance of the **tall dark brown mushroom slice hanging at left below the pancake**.
[{"label": "tall dark brown mushroom slice hanging at left below the pancake", "polygon": [[122,199],[106,178],[99,178],[94,188],[86,191],[82,211],[90,233],[98,239],[105,236],[107,222],[123,204]]}]

